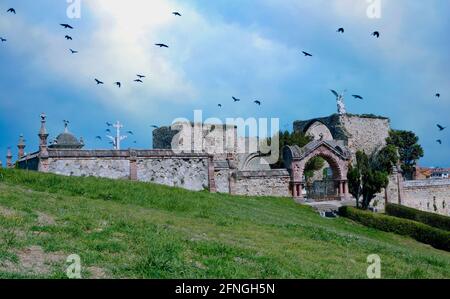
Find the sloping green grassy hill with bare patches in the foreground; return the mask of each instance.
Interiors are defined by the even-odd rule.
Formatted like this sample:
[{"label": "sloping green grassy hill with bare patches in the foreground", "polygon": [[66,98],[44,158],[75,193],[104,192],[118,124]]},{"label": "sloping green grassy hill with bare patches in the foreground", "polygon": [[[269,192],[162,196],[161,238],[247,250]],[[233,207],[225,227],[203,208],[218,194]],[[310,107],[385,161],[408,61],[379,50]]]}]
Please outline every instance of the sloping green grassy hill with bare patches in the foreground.
[{"label": "sloping green grassy hill with bare patches in the foreground", "polygon": [[290,199],[0,170],[0,278],[450,278],[450,253]]}]

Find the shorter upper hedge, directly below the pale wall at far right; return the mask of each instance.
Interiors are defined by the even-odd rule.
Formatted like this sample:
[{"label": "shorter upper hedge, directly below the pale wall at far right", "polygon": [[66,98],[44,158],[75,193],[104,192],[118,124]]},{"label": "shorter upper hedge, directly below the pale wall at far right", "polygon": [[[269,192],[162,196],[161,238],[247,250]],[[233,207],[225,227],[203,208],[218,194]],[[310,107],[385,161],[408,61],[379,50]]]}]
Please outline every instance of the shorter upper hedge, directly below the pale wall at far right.
[{"label": "shorter upper hedge, directly below the pale wall at far right", "polygon": [[422,222],[424,224],[436,228],[450,231],[450,217],[447,216],[424,212],[391,203],[386,205],[386,214],[390,216]]}]

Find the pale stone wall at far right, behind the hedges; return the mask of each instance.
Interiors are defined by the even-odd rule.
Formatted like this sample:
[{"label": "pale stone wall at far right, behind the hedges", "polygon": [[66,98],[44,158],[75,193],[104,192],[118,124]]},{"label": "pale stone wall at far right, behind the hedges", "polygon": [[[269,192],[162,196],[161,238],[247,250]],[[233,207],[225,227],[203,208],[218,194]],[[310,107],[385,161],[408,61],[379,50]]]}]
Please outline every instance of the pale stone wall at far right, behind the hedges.
[{"label": "pale stone wall at far right, behind the hedges", "polygon": [[450,216],[450,180],[406,181],[403,185],[403,205]]}]

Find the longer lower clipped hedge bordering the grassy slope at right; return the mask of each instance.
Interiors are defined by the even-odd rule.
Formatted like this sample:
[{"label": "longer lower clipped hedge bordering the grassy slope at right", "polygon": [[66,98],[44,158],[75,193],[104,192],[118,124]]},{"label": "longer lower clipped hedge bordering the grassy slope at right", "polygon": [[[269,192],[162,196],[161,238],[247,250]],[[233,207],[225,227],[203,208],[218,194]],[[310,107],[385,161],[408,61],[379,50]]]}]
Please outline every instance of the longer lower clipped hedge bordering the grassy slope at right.
[{"label": "longer lower clipped hedge bordering the grassy slope at right", "polygon": [[409,219],[402,219],[383,214],[341,207],[339,214],[365,226],[385,232],[392,232],[429,244],[437,249],[450,251],[450,232]]}]

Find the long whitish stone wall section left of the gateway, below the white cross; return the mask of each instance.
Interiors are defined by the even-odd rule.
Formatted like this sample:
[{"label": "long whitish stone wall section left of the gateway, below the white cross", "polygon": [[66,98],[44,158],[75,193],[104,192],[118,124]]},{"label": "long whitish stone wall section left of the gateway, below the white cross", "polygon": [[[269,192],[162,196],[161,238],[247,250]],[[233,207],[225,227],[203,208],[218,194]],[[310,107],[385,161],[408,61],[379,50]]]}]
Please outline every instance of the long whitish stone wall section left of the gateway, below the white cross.
[{"label": "long whitish stone wall section left of the gateway, below the white cross", "polygon": [[40,163],[48,165],[50,173],[215,191],[212,156],[205,154],[177,154],[170,150],[49,150],[48,153],[48,159]]}]

